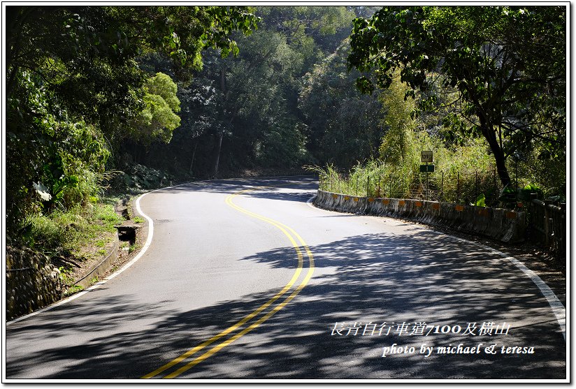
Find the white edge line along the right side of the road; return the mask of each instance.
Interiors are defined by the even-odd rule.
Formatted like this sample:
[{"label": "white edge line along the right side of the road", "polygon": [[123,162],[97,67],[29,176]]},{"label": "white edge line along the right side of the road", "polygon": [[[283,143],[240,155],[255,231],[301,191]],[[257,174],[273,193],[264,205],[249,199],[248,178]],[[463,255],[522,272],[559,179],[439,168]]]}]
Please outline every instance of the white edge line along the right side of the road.
[{"label": "white edge line along the right side of the road", "polygon": [[[316,195],[309,198],[308,201],[306,201],[306,204],[308,204],[309,207],[312,207],[315,210],[322,210],[322,208],[318,208],[318,207],[315,207],[314,205],[312,205],[312,200],[314,200],[315,197],[316,197]],[[368,216],[370,216],[370,215],[368,215]],[[477,247],[481,247],[482,249],[490,251],[492,254],[496,254],[498,256],[503,257],[506,260],[510,260],[511,263],[516,265],[516,267],[518,267],[519,270],[521,270],[524,274],[526,274],[526,276],[528,276],[529,279],[532,280],[532,282],[535,284],[535,286],[538,286],[538,289],[540,289],[540,293],[542,293],[542,295],[544,296],[544,298],[547,300],[548,304],[552,308],[552,313],[554,314],[554,316],[556,316],[556,321],[558,321],[558,324],[560,325],[560,330],[562,331],[562,335],[564,337],[564,342],[566,342],[566,307],[564,307],[564,305],[560,302],[558,296],[556,296],[556,294],[554,294],[552,289],[550,289],[550,287],[547,286],[547,284],[544,281],[542,281],[542,279],[540,277],[538,277],[538,274],[536,274],[532,270],[528,269],[528,267],[526,267],[526,265],[524,265],[524,263],[521,263],[519,260],[517,260],[513,256],[505,254],[502,251],[493,249],[492,247],[486,246],[484,244],[472,242],[471,240],[466,240],[466,239],[463,239],[461,237],[455,237],[454,235],[449,235],[447,233],[439,233],[438,231],[434,231],[434,230],[432,230],[432,232],[436,233],[438,235],[444,235],[447,237],[451,237],[452,239],[457,240],[457,241],[474,244]]]}]

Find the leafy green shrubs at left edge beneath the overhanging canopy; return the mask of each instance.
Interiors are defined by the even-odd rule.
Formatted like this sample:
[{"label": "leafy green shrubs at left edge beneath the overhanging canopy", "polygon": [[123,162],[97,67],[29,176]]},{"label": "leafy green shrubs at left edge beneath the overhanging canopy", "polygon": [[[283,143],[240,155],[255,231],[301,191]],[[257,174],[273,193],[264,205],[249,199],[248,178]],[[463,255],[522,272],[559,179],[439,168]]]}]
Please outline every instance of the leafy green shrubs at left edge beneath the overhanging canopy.
[{"label": "leafy green shrubs at left edge beneath the overhanging canopy", "polygon": [[8,98],[6,167],[10,208],[8,229],[14,232],[28,214],[55,207],[68,209],[99,193],[110,153],[97,129],[67,115],[52,113],[54,95],[23,73],[18,92]]}]

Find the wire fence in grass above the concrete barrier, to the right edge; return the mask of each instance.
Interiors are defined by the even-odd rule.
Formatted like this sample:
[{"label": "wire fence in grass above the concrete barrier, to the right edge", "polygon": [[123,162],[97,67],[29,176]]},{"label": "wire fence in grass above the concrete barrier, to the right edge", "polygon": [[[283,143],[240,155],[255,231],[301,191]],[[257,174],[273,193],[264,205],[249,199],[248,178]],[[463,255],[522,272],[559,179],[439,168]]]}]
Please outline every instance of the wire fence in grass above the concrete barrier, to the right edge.
[{"label": "wire fence in grass above the concrete barrier, to the right edge", "polygon": [[328,170],[319,174],[319,189],[358,197],[411,198],[524,210],[527,238],[545,247],[557,260],[565,259],[566,204],[539,200],[542,191],[519,185],[517,171],[512,173],[512,187],[505,188],[496,170],[428,174]]}]

